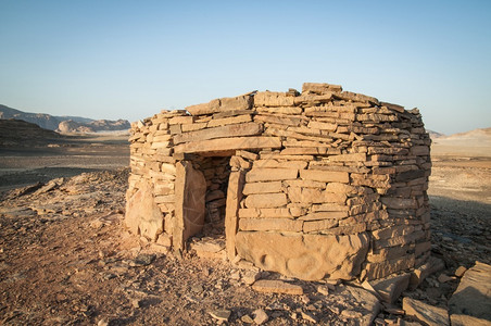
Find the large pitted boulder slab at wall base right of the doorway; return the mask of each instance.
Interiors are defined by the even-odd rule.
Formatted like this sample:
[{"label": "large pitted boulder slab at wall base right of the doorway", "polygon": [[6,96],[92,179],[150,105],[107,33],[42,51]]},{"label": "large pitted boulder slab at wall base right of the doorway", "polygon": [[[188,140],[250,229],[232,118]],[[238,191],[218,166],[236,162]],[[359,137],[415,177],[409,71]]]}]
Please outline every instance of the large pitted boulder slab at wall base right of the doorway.
[{"label": "large pitted boulder slab at wall base right of the doorway", "polygon": [[368,250],[368,236],[286,236],[239,231],[236,246],[241,258],[266,271],[306,280],[318,280],[325,276],[351,279],[361,271]]}]

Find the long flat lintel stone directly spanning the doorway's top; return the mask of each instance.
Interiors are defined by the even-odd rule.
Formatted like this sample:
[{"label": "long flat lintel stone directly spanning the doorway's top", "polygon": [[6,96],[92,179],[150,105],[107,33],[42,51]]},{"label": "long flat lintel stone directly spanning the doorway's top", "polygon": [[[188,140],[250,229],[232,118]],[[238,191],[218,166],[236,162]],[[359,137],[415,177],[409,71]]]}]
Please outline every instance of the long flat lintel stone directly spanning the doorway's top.
[{"label": "long flat lintel stone directly spanning the doorway's top", "polygon": [[234,137],[200,140],[180,143],[174,147],[175,153],[221,152],[241,149],[280,148],[281,140],[277,137]]}]

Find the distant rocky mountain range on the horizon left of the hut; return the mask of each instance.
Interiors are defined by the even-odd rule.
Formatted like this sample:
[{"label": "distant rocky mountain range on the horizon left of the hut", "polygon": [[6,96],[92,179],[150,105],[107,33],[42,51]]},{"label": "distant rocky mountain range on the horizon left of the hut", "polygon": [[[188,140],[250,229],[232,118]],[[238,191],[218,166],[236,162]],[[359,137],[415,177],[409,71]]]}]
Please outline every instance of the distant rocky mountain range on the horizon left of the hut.
[{"label": "distant rocky mountain range on the horizon left of the hut", "polygon": [[49,130],[60,133],[97,133],[129,129],[126,120],[91,120],[81,116],[53,116],[46,113],[29,113],[0,104],[0,120],[15,118],[29,122]]}]

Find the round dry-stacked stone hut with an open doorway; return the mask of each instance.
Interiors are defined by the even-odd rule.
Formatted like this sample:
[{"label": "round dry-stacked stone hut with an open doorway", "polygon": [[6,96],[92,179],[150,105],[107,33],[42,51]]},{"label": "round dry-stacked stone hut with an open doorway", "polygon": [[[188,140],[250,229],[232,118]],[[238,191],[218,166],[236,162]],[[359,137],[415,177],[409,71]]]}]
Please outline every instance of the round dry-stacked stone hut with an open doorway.
[{"label": "round dry-stacked stone hut with an open doorway", "polygon": [[305,83],[131,125],[126,226],[174,251],[306,280],[378,279],[430,252],[430,138],[417,109]]}]

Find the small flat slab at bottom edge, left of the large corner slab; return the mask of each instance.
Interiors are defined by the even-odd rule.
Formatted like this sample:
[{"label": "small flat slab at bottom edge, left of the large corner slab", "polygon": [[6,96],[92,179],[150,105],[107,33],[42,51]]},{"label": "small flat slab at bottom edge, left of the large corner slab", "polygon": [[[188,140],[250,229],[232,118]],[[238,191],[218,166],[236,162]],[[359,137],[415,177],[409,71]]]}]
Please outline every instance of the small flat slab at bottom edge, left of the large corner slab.
[{"label": "small flat slab at bottom edge, left of the large corner slab", "polygon": [[450,325],[449,313],[445,309],[429,305],[407,297],[402,300],[402,309],[406,315],[416,317],[429,326]]}]

